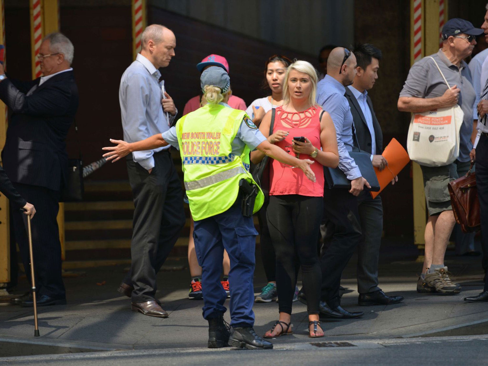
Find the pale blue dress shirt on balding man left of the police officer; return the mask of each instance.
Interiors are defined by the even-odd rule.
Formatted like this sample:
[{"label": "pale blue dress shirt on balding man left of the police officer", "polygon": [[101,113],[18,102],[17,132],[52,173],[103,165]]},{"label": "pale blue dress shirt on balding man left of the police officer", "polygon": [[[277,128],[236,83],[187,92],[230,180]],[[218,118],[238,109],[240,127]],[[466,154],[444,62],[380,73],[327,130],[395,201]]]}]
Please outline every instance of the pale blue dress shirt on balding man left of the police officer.
[{"label": "pale blue dress shirt on balding man left of the police officer", "polygon": [[[175,116],[167,120],[161,105],[161,73],[151,61],[137,54],[122,75],[119,88],[119,102],[122,114],[123,139],[126,142],[144,140],[152,135],[167,131]],[[153,150],[136,151],[132,158],[144,169],[154,168],[153,154],[169,146]]]}]

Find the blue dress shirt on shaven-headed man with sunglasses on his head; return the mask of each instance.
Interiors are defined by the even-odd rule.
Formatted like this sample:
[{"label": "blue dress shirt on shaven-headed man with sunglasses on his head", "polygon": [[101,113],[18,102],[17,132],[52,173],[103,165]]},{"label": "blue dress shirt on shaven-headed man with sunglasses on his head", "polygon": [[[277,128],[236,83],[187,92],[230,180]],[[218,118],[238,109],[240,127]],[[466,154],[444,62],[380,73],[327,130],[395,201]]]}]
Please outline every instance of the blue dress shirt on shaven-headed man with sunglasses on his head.
[{"label": "blue dress shirt on shaven-headed man with sunglasses on his head", "polygon": [[361,177],[361,171],[349,156],[352,151],[352,114],[347,98],[344,96],[346,88],[339,81],[329,75],[317,84],[317,103],[330,114],[336,129],[337,147],[339,149],[339,168],[346,174],[347,179]]}]

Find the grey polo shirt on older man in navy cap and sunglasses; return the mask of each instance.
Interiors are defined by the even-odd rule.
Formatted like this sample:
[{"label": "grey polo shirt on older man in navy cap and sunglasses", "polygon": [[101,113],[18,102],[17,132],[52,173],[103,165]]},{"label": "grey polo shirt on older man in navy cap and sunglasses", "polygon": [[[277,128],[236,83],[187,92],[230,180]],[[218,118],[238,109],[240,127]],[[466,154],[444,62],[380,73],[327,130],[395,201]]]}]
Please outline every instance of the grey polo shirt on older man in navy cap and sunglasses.
[{"label": "grey polo shirt on older man in navy cap and sunglasses", "polygon": [[[473,147],[471,132],[473,131],[473,103],[476,98],[471,73],[467,67],[468,64],[465,61],[461,61],[461,65],[458,68],[447,59],[442,49],[430,56],[439,65],[449,85],[451,87],[457,85],[461,89],[458,104],[464,112],[464,120],[459,133],[458,160],[460,162],[468,162],[470,160],[469,152]],[[436,98],[441,97],[446,90],[446,82],[444,82],[434,61],[424,57],[422,60],[415,62],[410,68],[405,85],[400,92],[400,97]]]}]

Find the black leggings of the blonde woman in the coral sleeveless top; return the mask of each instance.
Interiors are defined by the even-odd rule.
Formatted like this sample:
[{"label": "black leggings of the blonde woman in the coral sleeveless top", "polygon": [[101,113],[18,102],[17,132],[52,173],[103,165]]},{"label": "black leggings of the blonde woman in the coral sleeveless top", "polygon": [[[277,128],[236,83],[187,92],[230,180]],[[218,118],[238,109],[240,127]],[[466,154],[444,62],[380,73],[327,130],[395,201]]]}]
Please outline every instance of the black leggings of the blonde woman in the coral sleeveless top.
[{"label": "black leggings of the blonde woman in the coral sleeveless top", "polygon": [[270,196],[266,221],[276,253],[279,310],[291,314],[296,266],[302,265],[308,314],[319,313],[322,272],[317,255],[317,233],[324,199],[301,195]]}]

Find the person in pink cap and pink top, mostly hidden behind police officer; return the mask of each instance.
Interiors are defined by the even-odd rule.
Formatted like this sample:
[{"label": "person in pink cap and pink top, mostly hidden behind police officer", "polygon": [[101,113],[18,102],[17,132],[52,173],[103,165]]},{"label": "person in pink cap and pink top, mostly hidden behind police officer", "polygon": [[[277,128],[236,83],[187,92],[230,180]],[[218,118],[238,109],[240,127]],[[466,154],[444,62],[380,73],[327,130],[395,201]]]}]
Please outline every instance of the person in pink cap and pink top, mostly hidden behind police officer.
[{"label": "person in pink cap and pink top, mostly hidden behind police officer", "polygon": [[[210,66],[218,66],[222,67],[227,73],[229,73],[229,64],[225,57],[220,55],[208,55],[205,57],[202,62],[197,64],[197,69],[201,73],[203,70],[207,69]],[[186,102],[184,109],[183,109],[183,116],[197,110],[201,106],[206,104],[206,101],[203,99],[202,95],[197,95],[193,97],[188,102]],[[246,110],[245,102],[242,98],[236,97],[235,95],[231,95],[227,104],[234,109],[241,109],[243,111]],[[184,202],[188,203],[188,199],[186,195],[184,197]],[[190,283],[190,291],[188,293],[188,298],[192,300],[200,300],[203,299],[202,293],[202,267],[198,264],[197,255],[195,253],[195,242],[193,241],[193,219],[190,216],[190,235],[188,237],[188,265],[190,267],[190,276],[191,276],[191,283]],[[229,281],[228,281],[228,274],[230,270],[230,260],[227,252],[224,251],[224,278],[222,283],[222,287],[224,287],[225,292],[227,293],[227,297],[230,297],[230,289],[229,289]]]}]

